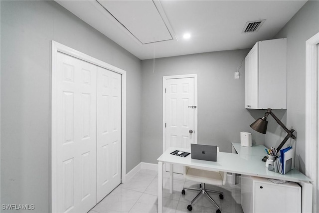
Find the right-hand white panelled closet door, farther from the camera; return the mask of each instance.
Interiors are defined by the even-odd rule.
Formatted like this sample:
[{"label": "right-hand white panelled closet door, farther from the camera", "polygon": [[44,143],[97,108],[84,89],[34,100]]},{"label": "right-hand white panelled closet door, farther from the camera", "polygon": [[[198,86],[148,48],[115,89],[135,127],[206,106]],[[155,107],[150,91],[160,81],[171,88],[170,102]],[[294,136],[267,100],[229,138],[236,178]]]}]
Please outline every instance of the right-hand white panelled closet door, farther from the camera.
[{"label": "right-hand white panelled closet door, farther from the camera", "polygon": [[97,200],[121,184],[122,75],[98,67]]}]

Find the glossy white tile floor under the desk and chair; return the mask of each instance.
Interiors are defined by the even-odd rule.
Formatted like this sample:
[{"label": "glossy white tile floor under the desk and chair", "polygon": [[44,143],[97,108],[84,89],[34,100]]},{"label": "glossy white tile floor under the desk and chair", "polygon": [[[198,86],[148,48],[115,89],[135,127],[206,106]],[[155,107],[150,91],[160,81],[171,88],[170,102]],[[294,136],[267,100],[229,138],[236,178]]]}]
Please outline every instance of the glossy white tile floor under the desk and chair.
[{"label": "glossy white tile floor under the desk and chair", "polygon": [[[186,190],[181,195],[183,186],[197,188],[198,183],[185,181],[182,175],[174,174],[174,192],[169,194],[168,173],[163,174],[163,212],[164,213],[215,213],[217,208],[204,195],[201,195],[192,205],[192,211],[187,210],[189,202],[197,192]],[[226,183],[222,187],[206,184],[207,189],[224,193],[224,199],[210,193],[213,200],[220,206],[222,213],[242,213],[240,205],[240,184]],[[89,213],[157,213],[158,212],[158,172],[140,170],[125,184],[119,185]]]}]

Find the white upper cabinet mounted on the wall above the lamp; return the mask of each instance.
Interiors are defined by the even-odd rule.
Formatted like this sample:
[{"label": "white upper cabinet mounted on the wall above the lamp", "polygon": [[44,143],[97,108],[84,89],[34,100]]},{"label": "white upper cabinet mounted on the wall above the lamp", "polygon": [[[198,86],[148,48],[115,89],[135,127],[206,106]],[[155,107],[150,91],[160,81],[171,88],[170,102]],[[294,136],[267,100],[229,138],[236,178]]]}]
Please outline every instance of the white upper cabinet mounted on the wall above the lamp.
[{"label": "white upper cabinet mounted on the wall above the lamp", "polygon": [[287,38],[258,41],[246,56],[245,108],[287,109]]}]

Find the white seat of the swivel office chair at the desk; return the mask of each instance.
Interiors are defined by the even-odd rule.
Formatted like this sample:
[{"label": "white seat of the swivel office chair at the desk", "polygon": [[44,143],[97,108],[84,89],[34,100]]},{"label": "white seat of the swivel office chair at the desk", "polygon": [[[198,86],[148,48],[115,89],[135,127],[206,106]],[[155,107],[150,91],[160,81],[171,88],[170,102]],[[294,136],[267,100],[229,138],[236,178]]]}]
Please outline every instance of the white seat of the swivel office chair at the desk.
[{"label": "white seat of the swivel office chair at the desk", "polygon": [[215,186],[223,185],[223,177],[219,172],[206,171],[195,168],[188,168],[188,170],[186,171],[186,180],[211,184]]}]

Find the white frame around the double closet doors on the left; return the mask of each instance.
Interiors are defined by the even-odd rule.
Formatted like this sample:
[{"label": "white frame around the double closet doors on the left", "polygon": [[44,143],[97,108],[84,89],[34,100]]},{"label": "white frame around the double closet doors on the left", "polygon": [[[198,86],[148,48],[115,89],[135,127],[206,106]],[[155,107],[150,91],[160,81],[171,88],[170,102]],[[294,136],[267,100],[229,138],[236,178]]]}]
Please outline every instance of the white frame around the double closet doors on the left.
[{"label": "white frame around the double closet doors on the left", "polygon": [[92,63],[94,65],[106,68],[113,72],[119,73],[122,75],[122,152],[121,152],[121,183],[124,184],[126,181],[126,71],[120,68],[117,68],[111,64],[93,58],[87,54],[79,52],[75,49],[72,49],[68,46],[65,46],[61,43],[58,43],[52,40],[51,45],[51,103],[50,103],[50,150],[49,150],[49,172],[50,172],[50,210],[51,212],[57,212],[57,141],[56,141],[56,120],[54,118],[57,114],[57,107],[52,105],[56,103],[56,85],[57,85],[57,53],[61,52],[80,60]]}]

